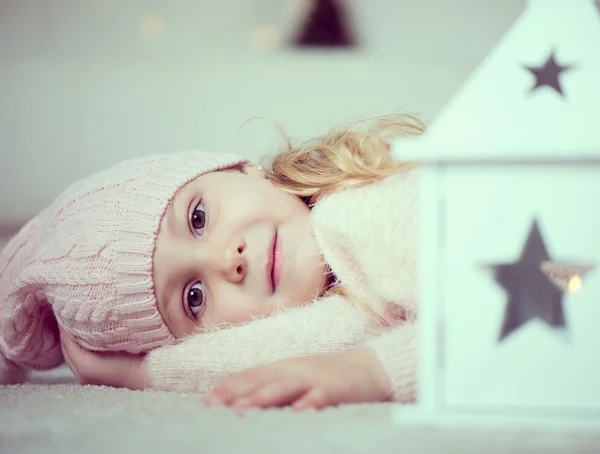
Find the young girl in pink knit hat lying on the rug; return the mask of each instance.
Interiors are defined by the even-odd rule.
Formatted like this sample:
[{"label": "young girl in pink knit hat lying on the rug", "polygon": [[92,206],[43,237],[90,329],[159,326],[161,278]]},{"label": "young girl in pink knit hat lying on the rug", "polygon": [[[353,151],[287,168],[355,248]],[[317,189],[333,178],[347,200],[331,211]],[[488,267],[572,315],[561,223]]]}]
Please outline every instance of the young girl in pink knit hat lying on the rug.
[{"label": "young girl in pink knit hat lying on the rug", "polygon": [[416,187],[387,138],[423,129],[384,117],[288,142],[269,171],[188,152],[74,185],[0,259],[0,378],[64,354],[83,383],[208,403],[414,400]]}]

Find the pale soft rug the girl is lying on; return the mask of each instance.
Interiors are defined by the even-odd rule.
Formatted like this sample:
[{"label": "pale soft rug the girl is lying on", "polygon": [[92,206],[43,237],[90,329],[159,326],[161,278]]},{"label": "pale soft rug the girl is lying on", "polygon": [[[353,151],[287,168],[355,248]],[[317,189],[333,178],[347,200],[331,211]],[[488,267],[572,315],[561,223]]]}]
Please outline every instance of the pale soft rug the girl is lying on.
[{"label": "pale soft rug the girl is lying on", "polygon": [[401,427],[392,404],[251,410],[197,395],[79,386],[59,370],[0,386],[1,453],[600,453],[600,434]]}]

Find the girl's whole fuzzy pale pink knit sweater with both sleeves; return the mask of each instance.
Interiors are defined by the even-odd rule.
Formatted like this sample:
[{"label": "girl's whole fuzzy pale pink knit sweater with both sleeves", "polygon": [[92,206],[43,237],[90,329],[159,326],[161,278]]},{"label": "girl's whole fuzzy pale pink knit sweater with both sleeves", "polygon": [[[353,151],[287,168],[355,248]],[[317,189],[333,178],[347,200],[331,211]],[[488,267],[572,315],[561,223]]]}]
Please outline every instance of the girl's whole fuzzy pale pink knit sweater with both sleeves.
[{"label": "girl's whole fuzzy pale pink knit sweater with both sleeves", "polygon": [[260,364],[367,346],[387,373],[393,398],[414,401],[417,194],[415,175],[405,171],[334,193],[313,208],[315,241],[358,304],[339,296],[321,298],[159,348],[147,357],[148,386],[204,393]]}]

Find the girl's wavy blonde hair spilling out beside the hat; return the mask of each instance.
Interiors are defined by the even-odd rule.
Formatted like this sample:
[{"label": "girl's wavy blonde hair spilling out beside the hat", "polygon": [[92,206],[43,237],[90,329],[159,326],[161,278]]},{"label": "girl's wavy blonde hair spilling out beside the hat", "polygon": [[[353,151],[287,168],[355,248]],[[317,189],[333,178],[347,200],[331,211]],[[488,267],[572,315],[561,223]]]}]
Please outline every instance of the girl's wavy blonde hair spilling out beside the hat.
[{"label": "girl's wavy blonde hair spilling out beside the hat", "polygon": [[[284,149],[265,163],[267,178],[312,208],[322,197],[340,189],[370,184],[415,166],[390,153],[390,139],[414,136],[425,124],[408,114],[371,117],[339,126],[328,134],[293,146],[283,129]],[[353,301],[338,282],[323,296],[337,294]]]}]

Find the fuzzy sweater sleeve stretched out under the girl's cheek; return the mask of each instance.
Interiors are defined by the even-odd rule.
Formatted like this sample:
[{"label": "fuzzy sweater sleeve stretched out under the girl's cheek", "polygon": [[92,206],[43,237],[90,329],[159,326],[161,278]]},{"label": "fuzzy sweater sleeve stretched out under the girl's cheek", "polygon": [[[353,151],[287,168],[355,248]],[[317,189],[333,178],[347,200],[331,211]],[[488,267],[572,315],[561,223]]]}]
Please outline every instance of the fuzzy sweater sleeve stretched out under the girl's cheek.
[{"label": "fuzzy sweater sleeve stretched out under the girl's cheek", "polygon": [[147,356],[146,387],[206,393],[222,379],[255,366],[347,350],[377,326],[364,311],[331,296],[153,350]]}]

